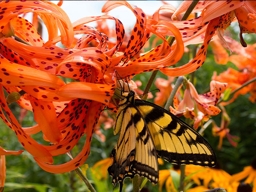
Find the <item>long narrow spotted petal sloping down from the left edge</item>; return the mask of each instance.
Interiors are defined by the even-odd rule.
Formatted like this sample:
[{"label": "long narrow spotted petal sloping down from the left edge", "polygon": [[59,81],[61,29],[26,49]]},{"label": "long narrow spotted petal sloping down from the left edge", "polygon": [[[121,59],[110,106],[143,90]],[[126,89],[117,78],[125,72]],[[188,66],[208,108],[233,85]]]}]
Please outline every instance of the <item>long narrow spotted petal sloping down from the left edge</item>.
[{"label": "long narrow spotted petal sloping down from the left edge", "polygon": [[43,145],[38,144],[34,139],[32,139],[28,134],[26,134],[20,124],[16,120],[15,116],[12,114],[11,110],[8,108],[3,92],[2,85],[0,86],[0,104],[5,110],[6,115],[8,116],[12,126],[10,127],[16,133],[19,142],[22,146],[34,157],[37,157],[42,162],[52,163],[53,159],[51,154],[44,148]]}]

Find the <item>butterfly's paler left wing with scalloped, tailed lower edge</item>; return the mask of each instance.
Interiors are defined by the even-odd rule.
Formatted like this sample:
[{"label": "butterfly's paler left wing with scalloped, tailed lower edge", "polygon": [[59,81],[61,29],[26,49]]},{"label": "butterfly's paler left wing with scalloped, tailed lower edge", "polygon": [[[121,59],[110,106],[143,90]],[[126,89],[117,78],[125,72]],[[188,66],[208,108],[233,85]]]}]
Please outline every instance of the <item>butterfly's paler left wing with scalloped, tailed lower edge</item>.
[{"label": "butterfly's paler left wing with scalloped, tailed lower edge", "polygon": [[126,177],[135,174],[150,182],[158,182],[158,156],[147,124],[132,103],[120,106],[114,133],[120,132],[118,143],[112,150],[113,163],[108,168],[114,186],[119,182],[120,191]]}]

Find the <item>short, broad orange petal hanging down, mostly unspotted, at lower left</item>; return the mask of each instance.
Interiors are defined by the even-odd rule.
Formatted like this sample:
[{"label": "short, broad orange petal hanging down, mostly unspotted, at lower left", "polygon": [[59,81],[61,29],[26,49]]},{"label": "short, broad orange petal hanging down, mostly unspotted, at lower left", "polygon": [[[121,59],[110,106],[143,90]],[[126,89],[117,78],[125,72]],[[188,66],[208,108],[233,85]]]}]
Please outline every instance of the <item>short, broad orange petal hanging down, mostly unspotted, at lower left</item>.
[{"label": "short, broad orange petal hanging down, mostly unspotted, at lower left", "polygon": [[34,112],[34,120],[46,138],[54,144],[60,142],[62,135],[58,128],[57,115],[52,102],[38,100],[30,96],[30,103]]}]

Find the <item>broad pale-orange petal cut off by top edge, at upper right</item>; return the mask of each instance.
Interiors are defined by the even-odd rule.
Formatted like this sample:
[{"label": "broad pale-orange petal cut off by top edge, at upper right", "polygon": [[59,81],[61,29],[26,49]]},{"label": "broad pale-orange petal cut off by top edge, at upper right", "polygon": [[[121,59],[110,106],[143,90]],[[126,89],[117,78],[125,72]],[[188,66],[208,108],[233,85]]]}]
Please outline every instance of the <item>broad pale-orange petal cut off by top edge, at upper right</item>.
[{"label": "broad pale-orange petal cut off by top edge, at upper right", "polygon": [[202,23],[222,16],[244,5],[244,1],[206,1],[202,11]]}]

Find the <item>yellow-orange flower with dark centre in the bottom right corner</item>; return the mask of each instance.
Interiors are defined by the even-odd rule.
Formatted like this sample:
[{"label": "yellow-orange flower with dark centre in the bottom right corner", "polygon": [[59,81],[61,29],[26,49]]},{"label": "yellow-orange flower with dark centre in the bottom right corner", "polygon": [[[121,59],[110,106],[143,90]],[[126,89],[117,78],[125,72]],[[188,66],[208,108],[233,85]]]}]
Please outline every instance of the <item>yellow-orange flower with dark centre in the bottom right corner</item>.
[{"label": "yellow-orange flower with dark centre in the bottom right corner", "polygon": [[246,178],[245,183],[253,184],[253,192],[256,192],[256,158],[254,158],[250,166],[244,167],[243,171],[232,175],[232,180],[234,181],[240,181],[244,178]]}]

